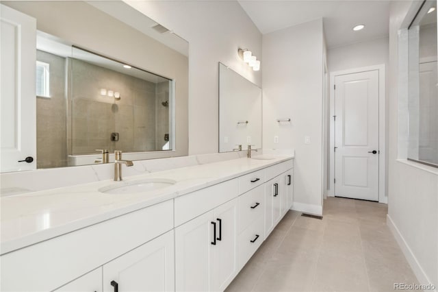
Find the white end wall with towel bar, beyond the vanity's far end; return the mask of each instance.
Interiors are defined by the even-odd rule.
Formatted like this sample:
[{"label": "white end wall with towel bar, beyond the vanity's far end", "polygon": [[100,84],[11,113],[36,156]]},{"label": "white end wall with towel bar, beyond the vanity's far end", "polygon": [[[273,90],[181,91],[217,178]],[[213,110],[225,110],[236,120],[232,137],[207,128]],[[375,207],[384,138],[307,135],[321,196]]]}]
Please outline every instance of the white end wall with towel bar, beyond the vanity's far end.
[{"label": "white end wall with towel bar, beyond the vanity's far end", "polygon": [[263,148],[295,149],[294,208],[313,213],[322,212],[323,54],[322,19],[263,35]]}]

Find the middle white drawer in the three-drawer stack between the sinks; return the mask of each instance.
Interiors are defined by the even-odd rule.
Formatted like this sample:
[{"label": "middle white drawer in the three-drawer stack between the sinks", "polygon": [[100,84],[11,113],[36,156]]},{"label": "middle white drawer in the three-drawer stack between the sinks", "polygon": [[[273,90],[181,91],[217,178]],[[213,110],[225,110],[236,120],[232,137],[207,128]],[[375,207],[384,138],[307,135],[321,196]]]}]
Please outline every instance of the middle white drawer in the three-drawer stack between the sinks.
[{"label": "middle white drawer in the three-drawer stack between the sinks", "polygon": [[253,188],[239,197],[239,219],[237,232],[242,232],[250,223],[264,218],[265,188],[263,185]]}]

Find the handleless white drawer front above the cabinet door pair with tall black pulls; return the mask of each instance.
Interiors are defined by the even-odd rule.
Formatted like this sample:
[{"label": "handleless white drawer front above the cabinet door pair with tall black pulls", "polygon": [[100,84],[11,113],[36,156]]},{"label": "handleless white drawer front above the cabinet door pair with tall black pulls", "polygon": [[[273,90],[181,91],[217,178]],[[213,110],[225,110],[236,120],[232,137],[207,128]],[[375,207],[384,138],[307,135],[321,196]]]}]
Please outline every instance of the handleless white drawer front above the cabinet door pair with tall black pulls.
[{"label": "handleless white drawer front above the cabinet door pair with tall black pulls", "polygon": [[175,227],[237,197],[239,181],[221,182],[175,199]]}]

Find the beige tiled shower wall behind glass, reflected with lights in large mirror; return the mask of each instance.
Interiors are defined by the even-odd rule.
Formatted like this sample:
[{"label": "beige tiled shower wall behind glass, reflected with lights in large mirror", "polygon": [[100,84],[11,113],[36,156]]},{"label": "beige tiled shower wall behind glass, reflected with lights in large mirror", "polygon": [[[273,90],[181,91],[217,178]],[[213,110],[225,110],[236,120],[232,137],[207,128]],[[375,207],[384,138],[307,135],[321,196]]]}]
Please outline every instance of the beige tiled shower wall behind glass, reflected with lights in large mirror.
[{"label": "beige tiled shower wall behind glass, reflected with lights in large mirror", "polygon": [[[72,154],[155,150],[155,84],[71,59]],[[100,95],[101,88],[121,99]],[[119,141],[110,140],[118,132]]]}]

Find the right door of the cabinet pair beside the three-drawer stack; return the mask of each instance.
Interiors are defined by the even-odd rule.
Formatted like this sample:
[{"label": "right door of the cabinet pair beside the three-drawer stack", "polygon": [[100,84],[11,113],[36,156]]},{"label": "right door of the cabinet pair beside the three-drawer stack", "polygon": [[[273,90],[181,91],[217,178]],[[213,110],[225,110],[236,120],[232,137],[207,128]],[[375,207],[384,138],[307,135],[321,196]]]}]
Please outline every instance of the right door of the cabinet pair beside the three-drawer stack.
[{"label": "right door of the cabinet pair beside the three-drawer stack", "polygon": [[237,198],[214,209],[216,245],[211,246],[210,291],[224,291],[237,274]]}]

